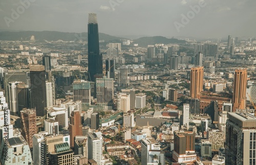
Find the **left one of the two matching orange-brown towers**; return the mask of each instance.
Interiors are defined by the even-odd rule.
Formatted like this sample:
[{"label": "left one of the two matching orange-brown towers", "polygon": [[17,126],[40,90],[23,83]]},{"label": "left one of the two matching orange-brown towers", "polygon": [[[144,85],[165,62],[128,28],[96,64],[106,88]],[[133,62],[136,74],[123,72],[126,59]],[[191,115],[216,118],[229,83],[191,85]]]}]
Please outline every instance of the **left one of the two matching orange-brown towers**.
[{"label": "left one of the two matching orange-brown towers", "polygon": [[203,91],[203,66],[191,68],[190,74],[190,97],[198,99],[198,95]]}]

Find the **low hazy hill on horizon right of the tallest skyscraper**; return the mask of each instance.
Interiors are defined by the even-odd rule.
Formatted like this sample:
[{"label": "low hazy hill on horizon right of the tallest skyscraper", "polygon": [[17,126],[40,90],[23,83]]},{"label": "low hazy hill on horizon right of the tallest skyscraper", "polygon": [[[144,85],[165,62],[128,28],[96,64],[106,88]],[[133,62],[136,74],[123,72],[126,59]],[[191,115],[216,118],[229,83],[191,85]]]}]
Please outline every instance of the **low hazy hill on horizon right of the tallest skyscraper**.
[{"label": "low hazy hill on horizon right of the tallest skyscraper", "polygon": [[179,40],[176,38],[166,38],[162,36],[154,37],[141,37],[134,40],[134,43],[138,43],[139,46],[147,46],[149,44],[154,45],[157,43],[170,44],[170,43],[185,43],[185,40]]}]

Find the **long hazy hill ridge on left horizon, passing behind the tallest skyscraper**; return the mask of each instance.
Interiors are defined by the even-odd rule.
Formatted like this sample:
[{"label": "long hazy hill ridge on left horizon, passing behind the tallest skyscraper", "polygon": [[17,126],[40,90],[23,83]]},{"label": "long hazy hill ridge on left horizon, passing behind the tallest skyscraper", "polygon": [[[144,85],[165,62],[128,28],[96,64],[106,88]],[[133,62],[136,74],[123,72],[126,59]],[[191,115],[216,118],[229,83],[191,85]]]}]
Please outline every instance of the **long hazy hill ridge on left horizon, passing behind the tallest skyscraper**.
[{"label": "long hazy hill ridge on left horizon, passing behind the tallest skyscraper", "polygon": [[[31,36],[35,36],[35,40],[48,40],[48,41],[78,41],[88,40],[87,33],[67,33],[67,32],[56,32],[56,31],[22,31],[22,32],[0,32],[0,40],[16,41],[16,40],[30,40]],[[99,40],[105,40],[105,42],[112,40],[125,39],[122,37],[115,37],[104,33],[99,33]]]}]

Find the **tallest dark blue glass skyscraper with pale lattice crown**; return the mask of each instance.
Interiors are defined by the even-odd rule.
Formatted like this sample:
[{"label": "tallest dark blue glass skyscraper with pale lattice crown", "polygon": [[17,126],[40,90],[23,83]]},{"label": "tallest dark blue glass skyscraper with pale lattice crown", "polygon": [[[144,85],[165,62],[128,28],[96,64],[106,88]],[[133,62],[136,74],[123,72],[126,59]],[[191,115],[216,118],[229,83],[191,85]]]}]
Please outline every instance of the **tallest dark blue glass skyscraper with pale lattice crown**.
[{"label": "tallest dark blue glass skyscraper with pale lattice crown", "polygon": [[94,81],[96,74],[102,74],[102,54],[99,53],[99,31],[97,15],[89,13],[88,20],[88,75]]}]

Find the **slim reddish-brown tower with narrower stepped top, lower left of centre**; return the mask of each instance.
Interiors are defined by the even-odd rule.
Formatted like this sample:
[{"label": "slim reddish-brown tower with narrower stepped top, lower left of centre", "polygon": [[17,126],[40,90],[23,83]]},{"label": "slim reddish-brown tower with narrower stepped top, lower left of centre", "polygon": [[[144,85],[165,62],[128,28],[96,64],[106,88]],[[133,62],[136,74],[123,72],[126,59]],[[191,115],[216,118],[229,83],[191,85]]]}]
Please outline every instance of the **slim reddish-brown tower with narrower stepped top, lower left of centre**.
[{"label": "slim reddish-brown tower with narrower stepped top, lower left of centre", "polygon": [[81,117],[78,110],[71,112],[69,134],[70,134],[70,148],[74,148],[75,136],[82,136]]}]

